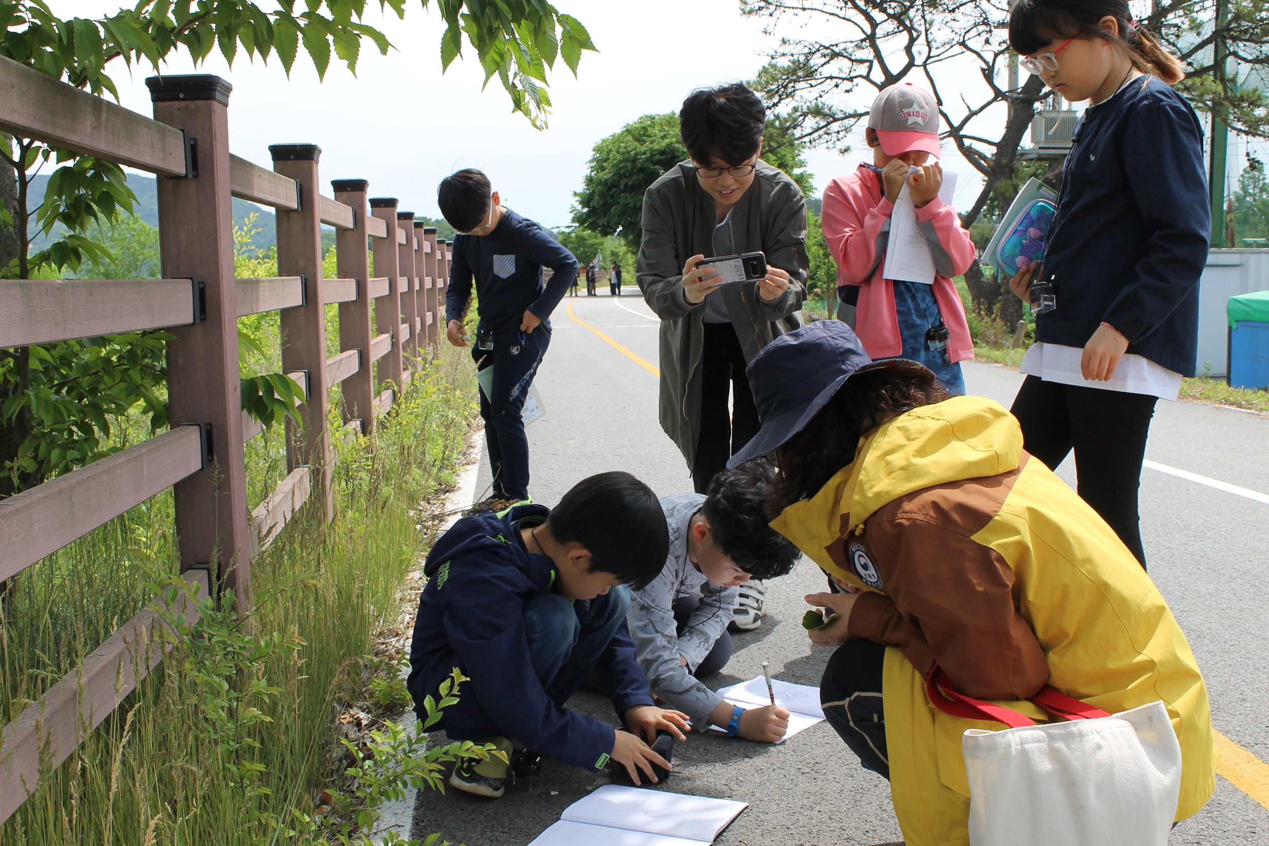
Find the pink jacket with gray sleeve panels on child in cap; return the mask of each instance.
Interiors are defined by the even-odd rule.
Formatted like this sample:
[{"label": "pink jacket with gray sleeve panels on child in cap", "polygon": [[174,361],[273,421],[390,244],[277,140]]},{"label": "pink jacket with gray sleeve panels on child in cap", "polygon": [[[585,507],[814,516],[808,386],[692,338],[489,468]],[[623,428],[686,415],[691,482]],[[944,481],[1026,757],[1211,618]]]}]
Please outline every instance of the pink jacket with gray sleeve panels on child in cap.
[{"label": "pink jacket with gray sleeve panels on child in cap", "polygon": [[[838,286],[860,286],[855,334],[873,358],[904,354],[895,312],[895,286],[882,278],[883,262],[877,255],[877,236],[893,208],[882,196],[878,175],[864,166],[835,178],[824,192],[824,238],[838,263]],[[939,244],[952,259],[952,276],[964,273],[976,252],[970,234],[956,216],[956,208],[935,197],[916,210],[916,220],[934,224]],[[973,339],[964,319],[964,306],[950,277],[934,277],[934,299],[950,335],[948,353],[952,361],[973,358]]]}]

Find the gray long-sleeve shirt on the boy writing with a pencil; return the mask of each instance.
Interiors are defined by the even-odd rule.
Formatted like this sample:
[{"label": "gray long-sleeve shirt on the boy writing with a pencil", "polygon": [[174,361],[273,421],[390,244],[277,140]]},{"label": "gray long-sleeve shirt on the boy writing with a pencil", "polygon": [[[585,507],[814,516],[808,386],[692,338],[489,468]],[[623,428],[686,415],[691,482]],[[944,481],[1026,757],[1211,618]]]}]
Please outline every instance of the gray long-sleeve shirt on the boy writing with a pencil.
[{"label": "gray long-sleeve shirt on the boy writing with a pencil", "polygon": [[[670,528],[670,555],[665,569],[642,591],[631,592],[627,616],[634,638],[636,657],[647,675],[652,692],[670,708],[692,718],[697,730],[706,730],[709,714],[722,701],[692,675],[731,622],[740,591],[720,587],[706,579],[688,559],[688,528],[700,511],[703,494],[679,494],[661,499]],[[700,588],[700,606],[688,620],[681,635],[675,634],[673,603]],[[688,659],[687,666],[679,655]]]}]

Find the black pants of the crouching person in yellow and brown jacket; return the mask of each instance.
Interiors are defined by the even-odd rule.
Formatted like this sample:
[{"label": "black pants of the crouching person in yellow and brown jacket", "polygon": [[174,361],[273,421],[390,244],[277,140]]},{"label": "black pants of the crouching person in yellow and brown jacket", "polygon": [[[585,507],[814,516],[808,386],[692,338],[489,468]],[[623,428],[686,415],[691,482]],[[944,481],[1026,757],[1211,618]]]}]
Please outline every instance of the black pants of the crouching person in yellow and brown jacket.
[{"label": "black pants of the crouching person in yellow and brown jacket", "polygon": [[864,770],[890,779],[881,697],[884,661],[886,647],[872,640],[848,640],[838,647],[820,680],[820,706]]}]

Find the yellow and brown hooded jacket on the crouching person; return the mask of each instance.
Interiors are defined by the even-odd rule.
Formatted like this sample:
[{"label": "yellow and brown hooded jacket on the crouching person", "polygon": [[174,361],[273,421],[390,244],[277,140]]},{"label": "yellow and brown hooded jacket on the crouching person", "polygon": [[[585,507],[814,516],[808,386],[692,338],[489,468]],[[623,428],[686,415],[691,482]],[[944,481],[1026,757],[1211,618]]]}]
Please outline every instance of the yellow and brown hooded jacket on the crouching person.
[{"label": "yellow and brown hooded jacket on the crouching person", "polygon": [[851,638],[886,650],[895,813],[909,846],[968,843],[961,735],[925,694],[934,663],[962,692],[1037,720],[1046,685],[1117,713],[1162,700],[1181,747],[1176,819],[1214,789],[1207,687],[1164,597],[1098,514],[1022,448],[1004,408],[959,396],[902,414],[772,526],[864,588]]}]

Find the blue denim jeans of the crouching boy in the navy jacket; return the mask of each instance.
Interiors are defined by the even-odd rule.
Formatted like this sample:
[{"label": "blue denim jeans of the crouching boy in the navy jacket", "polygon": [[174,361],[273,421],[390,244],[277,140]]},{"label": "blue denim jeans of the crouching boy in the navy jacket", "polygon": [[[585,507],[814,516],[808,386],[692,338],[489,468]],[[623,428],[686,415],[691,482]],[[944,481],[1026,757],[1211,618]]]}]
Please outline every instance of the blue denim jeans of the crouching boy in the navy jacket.
[{"label": "blue denim jeans of the crouching boy in the navy jacket", "polygon": [[590,601],[593,616],[577,619],[572,602],[539,593],[524,603],[524,634],[533,672],[556,705],[563,705],[590,676],[631,608],[629,588],[618,584]]}]

